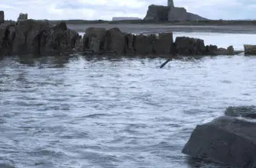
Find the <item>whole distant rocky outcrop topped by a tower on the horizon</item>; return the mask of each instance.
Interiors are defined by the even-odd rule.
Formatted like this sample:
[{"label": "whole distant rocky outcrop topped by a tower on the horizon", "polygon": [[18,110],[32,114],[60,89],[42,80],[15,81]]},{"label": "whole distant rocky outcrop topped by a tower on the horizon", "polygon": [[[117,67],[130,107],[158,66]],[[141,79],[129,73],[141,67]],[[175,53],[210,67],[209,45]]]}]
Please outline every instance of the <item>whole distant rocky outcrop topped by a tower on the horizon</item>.
[{"label": "whole distant rocky outcrop topped by a tower on the horizon", "polygon": [[149,5],[144,20],[152,21],[205,21],[199,15],[186,11],[186,8],[175,7],[173,0],[168,0],[167,6]]}]

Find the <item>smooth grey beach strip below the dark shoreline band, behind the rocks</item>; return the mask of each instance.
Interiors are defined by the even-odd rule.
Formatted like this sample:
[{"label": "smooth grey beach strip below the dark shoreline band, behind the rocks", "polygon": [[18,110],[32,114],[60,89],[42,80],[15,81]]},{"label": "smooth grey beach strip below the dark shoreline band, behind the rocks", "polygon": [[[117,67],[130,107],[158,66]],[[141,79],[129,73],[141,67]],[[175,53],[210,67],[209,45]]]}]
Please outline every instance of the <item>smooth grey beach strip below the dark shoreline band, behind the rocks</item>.
[{"label": "smooth grey beach strip below the dark shoreline band, behind the rocks", "polygon": [[118,27],[127,33],[154,34],[160,32],[209,32],[229,34],[256,34],[256,25],[166,25],[166,24],[68,24],[69,28],[84,32],[87,27]]}]

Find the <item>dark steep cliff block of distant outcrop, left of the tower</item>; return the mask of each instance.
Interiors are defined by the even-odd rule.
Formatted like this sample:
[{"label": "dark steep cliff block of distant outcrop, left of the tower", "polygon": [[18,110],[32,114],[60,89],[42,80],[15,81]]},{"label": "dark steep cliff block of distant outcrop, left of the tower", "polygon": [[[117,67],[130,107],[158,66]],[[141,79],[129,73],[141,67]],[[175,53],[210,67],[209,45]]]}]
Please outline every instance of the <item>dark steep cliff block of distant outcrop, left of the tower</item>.
[{"label": "dark steep cliff block of distant outcrop, left of the tower", "polygon": [[169,6],[149,5],[144,20],[168,21]]}]

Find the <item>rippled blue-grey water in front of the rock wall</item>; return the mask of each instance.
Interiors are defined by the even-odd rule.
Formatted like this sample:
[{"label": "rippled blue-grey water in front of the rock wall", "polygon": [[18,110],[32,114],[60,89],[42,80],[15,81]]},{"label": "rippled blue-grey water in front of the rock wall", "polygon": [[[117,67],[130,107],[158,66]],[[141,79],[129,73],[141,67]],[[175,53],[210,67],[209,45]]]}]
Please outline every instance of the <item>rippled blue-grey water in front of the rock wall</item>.
[{"label": "rippled blue-grey water in front of the rock wall", "polygon": [[256,57],[175,60],[159,69],[163,62],[0,61],[0,167],[223,167],[181,150],[196,124],[229,105],[255,105]]}]

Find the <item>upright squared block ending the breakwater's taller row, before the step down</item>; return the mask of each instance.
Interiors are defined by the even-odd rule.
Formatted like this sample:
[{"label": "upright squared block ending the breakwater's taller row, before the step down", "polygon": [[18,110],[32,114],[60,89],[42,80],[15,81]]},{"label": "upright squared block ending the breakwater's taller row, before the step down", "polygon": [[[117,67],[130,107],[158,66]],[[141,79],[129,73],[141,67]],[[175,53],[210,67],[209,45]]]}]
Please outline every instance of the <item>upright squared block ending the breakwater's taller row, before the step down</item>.
[{"label": "upright squared block ending the breakwater's taller row, before the step down", "polygon": [[154,44],[156,54],[170,54],[173,50],[173,33],[160,33]]}]

